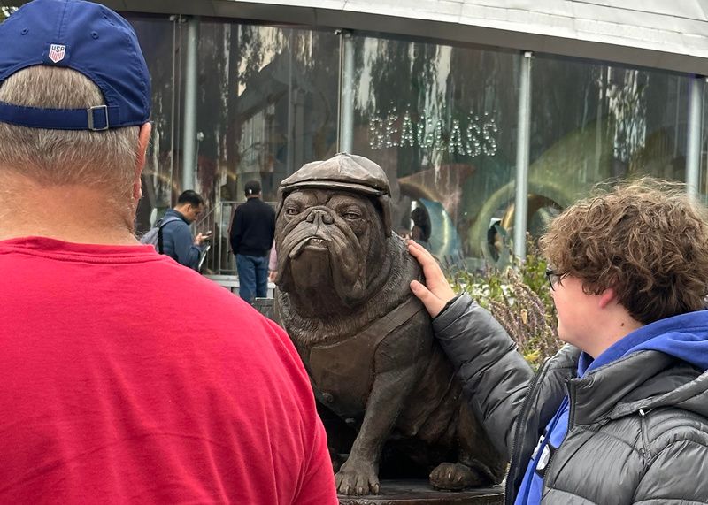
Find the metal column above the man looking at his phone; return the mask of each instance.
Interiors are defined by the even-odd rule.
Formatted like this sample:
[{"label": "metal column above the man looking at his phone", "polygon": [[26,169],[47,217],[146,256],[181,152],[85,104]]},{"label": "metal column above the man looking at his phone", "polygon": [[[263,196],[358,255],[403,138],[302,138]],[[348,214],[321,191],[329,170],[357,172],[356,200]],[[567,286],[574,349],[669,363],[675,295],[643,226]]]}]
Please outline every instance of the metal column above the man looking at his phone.
[{"label": "metal column above the man looking at his phone", "polygon": [[187,21],[187,56],[184,76],[184,117],[182,129],[181,191],[196,185],[196,49],[199,43],[199,18]]}]

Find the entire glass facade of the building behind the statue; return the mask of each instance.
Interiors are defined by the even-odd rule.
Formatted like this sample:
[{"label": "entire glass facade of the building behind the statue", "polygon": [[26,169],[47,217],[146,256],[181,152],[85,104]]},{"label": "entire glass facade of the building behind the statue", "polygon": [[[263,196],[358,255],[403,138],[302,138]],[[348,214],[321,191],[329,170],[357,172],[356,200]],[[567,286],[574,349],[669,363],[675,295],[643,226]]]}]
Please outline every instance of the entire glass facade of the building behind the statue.
[{"label": "entire glass facade of the building behind the statue", "polygon": [[[154,126],[138,231],[190,188],[190,167],[216,232],[212,270],[233,272],[227,227],[243,184],[259,180],[264,200],[274,202],[281,180],[304,163],[347,150],[388,173],[396,231],[410,230],[412,210],[422,207],[431,249],[443,260],[478,266],[507,257],[521,149],[519,51],[202,18],[196,63],[189,63],[186,19],[124,15],[152,75]],[[196,80],[192,115],[189,79]],[[686,180],[695,79],[535,53],[527,231],[537,236],[601,181],[644,174]],[[708,108],[700,114],[697,191],[706,195]],[[188,123],[194,140],[185,137]]]}]

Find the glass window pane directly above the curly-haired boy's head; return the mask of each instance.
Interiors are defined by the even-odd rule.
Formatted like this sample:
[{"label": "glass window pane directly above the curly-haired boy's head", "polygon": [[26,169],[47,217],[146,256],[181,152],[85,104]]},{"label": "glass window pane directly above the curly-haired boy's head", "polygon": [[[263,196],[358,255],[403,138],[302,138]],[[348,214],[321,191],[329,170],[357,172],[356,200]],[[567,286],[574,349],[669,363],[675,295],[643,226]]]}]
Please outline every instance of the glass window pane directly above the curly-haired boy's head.
[{"label": "glass window pane directly above the curly-haired boy's head", "polygon": [[685,180],[689,80],[658,71],[535,57],[529,230],[604,180]]}]

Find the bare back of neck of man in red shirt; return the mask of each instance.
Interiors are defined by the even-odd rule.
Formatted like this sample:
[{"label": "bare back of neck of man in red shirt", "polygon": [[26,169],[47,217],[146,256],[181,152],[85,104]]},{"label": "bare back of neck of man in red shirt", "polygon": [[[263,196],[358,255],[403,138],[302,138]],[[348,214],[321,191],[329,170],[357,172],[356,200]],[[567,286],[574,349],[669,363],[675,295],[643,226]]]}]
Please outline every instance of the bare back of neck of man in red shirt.
[{"label": "bare back of neck of man in red shirt", "polygon": [[42,236],[92,244],[135,244],[135,208],[104,191],[42,186],[21,176],[0,180],[0,240]]}]

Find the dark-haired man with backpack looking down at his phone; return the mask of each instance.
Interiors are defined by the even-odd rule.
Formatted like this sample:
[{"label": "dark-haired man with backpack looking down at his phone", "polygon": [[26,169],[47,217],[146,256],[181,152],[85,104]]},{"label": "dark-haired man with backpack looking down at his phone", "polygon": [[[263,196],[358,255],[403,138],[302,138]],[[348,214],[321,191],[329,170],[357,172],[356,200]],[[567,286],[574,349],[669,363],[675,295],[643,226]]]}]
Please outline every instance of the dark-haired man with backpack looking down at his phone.
[{"label": "dark-haired man with backpack looking down at his phone", "polygon": [[165,212],[162,221],[162,254],[170,256],[179,264],[196,270],[203,242],[207,235],[198,233],[192,238],[189,229],[196,218],[204,212],[204,199],[195,191],[188,189],[177,198],[174,209]]}]

